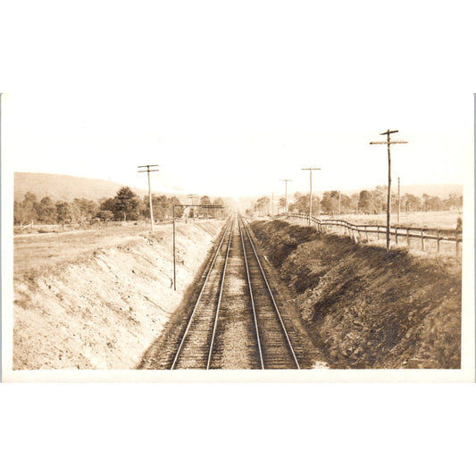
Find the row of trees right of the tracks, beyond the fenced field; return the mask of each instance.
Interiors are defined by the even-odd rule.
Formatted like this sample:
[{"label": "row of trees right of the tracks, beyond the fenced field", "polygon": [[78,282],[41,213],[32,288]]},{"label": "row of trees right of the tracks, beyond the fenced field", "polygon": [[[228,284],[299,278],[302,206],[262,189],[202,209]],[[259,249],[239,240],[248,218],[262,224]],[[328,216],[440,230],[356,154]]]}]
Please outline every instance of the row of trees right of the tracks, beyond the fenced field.
[{"label": "row of trees right of the tracks, beyond the fenced field", "polygon": [[[271,205],[269,196],[262,196],[255,202],[254,212],[257,214],[271,214],[283,212],[285,198],[280,197],[278,204]],[[397,193],[391,194],[391,208],[397,210]],[[271,210],[273,208],[273,210]],[[455,210],[461,212],[463,208],[463,195],[450,193],[447,198],[439,196],[414,196],[405,193],[400,196],[400,210],[402,212],[441,212]],[[291,213],[309,213],[309,194],[296,192],[288,202],[288,211]],[[313,195],[313,214],[349,214],[349,213],[386,213],[387,212],[387,187],[378,186],[372,190],[361,190],[347,196],[338,190],[326,191],[322,197]],[[253,213],[247,210],[246,213]]]}]

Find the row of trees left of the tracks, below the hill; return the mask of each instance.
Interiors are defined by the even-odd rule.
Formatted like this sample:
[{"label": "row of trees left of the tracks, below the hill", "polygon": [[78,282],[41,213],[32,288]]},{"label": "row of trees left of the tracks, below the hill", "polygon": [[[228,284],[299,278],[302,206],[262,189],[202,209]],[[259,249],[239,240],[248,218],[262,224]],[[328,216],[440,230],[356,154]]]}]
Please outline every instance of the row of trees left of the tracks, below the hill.
[{"label": "row of trees left of the tracks, below the hill", "polygon": [[[153,195],[152,210],[154,221],[171,219],[173,205],[181,205],[176,196]],[[195,204],[197,205],[197,204]],[[201,196],[199,205],[223,205],[223,200],[215,198],[212,202],[209,196]],[[216,210],[200,211],[196,213],[193,208],[185,209],[179,206],[175,208],[175,216],[193,217],[194,213],[199,216],[218,217],[222,213]],[[66,224],[84,223],[90,221],[138,221],[150,219],[149,196],[142,199],[129,187],[121,187],[115,196],[103,198],[95,202],[86,198],[74,198],[67,202],[64,200],[53,201],[49,196],[44,196],[38,201],[35,194],[27,192],[23,200],[13,203],[13,224],[26,225],[33,223]]]}]

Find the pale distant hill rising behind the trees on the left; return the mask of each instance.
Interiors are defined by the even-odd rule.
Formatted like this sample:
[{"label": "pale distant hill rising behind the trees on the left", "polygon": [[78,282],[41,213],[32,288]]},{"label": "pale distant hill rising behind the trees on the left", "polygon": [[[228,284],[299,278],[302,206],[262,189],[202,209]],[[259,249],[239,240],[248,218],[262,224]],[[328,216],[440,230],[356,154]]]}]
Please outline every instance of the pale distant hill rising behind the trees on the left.
[{"label": "pale distant hill rising behind the trees on the left", "polygon": [[[14,199],[21,201],[27,192],[31,192],[37,196],[38,200],[41,200],[44,196],[49,196],[53,201],[66,200],[69,202],[74,198],[88,198],[88,200],[96,201],[104,197],[114,196],[121,187],[123,187],[123,184],[109,180],[16,171],[14,176]],[[131,189],[140,197],[148,193],[143,188],[131,187]]]}]

